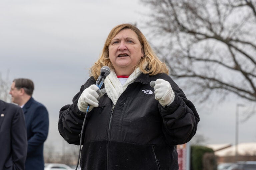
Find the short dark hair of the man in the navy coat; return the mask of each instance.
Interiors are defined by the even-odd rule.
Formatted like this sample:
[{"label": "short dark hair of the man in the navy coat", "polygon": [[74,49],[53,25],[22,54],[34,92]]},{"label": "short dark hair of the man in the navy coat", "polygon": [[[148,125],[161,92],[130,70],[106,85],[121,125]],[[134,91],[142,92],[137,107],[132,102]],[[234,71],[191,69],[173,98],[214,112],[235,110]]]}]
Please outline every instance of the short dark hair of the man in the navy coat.
[{"label": "short dark hair of the man in the navy coat", "polygon": [[34,83],[32,80],[27,78],[17,78],[14,79],[13,82],[15,82],[15,87],[17,89],[23,88],[27,95],[32,96],[34,91]]}]

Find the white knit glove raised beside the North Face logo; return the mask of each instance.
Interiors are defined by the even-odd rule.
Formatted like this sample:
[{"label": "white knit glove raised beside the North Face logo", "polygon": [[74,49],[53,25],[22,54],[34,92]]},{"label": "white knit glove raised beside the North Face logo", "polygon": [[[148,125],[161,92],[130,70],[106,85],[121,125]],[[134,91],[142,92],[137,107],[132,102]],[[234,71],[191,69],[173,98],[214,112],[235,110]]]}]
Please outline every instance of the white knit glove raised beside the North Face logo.
[{"label": "white knit glove raised beside the North Face logo", "polygon": [[156,81],[151,81],[150,86],[154,87],[155,99],[162,106],[169,106],[174,101],[175,94],[168,81],[157,79]]}]

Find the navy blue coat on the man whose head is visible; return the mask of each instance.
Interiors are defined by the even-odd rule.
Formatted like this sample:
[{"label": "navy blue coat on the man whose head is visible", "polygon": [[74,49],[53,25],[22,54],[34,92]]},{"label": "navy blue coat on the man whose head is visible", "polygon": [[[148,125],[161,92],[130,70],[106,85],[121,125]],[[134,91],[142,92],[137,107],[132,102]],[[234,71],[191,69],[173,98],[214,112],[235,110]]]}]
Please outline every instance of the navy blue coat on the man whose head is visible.
[{"label": "navy blue coat on the man whose head is visible", "polygon": [[28,135],[26,170],[44,170],[43,147],[48,135],[47,109],[32,97],[22,107]]}]

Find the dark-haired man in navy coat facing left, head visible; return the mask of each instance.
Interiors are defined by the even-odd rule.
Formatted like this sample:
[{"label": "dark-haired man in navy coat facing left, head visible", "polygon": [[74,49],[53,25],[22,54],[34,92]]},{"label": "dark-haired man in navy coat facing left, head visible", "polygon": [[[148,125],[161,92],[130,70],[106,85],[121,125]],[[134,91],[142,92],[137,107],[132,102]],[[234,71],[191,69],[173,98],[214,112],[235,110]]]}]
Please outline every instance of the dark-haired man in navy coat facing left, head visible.
[{"label": "dark-haired man in navy coat facing left, head visible", "polygon": [[32,97],[34,83],[30,79],[14,79],[10,95],[12,102],[23,110],[27,126],[28,149],[25,162],[26,170],[43,170],[43,147],[48,135],[49,117],[44,105]]}]

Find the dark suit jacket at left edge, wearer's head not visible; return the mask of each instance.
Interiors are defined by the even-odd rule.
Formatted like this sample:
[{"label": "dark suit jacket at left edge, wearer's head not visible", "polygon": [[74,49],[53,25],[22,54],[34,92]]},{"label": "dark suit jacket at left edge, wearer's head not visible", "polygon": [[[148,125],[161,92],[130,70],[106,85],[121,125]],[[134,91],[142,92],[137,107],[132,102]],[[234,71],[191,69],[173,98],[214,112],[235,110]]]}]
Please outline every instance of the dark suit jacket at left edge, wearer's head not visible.
[{"label": "dark suit jacket at left edge, wearer's head not visible", "polygon": [[24,170],[27,132],[22,109],[0,100],[0,169]]}]

